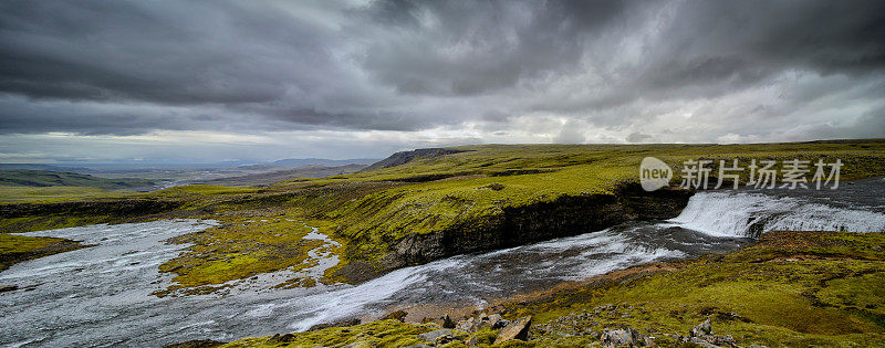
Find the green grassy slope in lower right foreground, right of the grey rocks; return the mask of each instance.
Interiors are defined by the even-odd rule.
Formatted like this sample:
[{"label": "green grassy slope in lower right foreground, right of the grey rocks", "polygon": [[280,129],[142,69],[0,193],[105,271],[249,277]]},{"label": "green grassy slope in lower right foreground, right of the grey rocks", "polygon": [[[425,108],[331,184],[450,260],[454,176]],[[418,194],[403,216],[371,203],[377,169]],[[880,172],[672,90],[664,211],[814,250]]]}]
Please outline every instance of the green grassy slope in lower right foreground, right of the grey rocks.
[{"label": "green grassy slope in lower right foreground, right of the grey rocks", "polygon": [[[748,346],[885,344],[885,234],[770,232],[751,247],[680,265],[675,272],[587,286],[514,307],[539,323],[625,304],[622,316],[570,329],[631,326],[686,335],[707,317]],[[738,314],[736,320],[730,316]],[[555,330],[545,337],[559,335]]]}]

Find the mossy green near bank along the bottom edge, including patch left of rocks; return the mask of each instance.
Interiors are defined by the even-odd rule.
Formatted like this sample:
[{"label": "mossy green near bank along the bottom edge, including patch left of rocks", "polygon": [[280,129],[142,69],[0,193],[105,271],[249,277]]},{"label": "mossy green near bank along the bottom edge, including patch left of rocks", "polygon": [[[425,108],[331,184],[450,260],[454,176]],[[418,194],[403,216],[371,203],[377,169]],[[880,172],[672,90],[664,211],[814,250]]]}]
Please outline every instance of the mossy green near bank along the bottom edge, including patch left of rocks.
[{"label": "mossy green near bank along the bottom edge, including patch left of rocks", "polygon": [[[729,255],[665,264],[656,270],[668,271],[638,276],[608,275],[577,289],[511,303],[506,317],[533,315],[534,324],[530,341],[510,345],[586,346],[597,342],[592,333],[629,326],[670,347],[677,341],[667,335],[685,336],[706,318],[717,335],[731,335],[741,346],[885,345],[883,251],[882,233],[771,232]],[[228,347],[414,344],[416,334],[430,329],[386,320],[294,334],[288,342],[247,338]],[[480,347],[489,346],[488,333],[475,335],[486,336]]]}]

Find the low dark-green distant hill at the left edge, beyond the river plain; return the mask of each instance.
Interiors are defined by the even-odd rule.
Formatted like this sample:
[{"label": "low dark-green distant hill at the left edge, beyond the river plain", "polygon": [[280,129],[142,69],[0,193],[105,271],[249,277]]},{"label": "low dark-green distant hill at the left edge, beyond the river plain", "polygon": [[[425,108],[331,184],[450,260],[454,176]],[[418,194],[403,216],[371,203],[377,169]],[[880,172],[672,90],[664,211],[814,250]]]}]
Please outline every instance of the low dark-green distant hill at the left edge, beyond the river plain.
[{"label": "low dark-green distant hill at the left edge, beyond the river plain", "polygon": [[105,179],[90,175],[74,172],[60,172],[48,170],[0,170],[0,186],[27,186],[27,187],[51,187],[51,186],[75,186],[91,187],[106,190],[127,189],[136,187],[153,186],[154,181],[146,179]]}]

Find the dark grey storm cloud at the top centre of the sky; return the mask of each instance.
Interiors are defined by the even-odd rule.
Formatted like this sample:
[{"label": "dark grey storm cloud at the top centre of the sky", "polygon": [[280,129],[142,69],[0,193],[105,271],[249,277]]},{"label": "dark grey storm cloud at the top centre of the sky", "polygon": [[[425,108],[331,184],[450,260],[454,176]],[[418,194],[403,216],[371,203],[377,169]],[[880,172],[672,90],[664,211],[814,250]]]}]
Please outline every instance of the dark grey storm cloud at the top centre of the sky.
[{"label": "dark grey storm cloud at the top centre of the sky", "polygon": [[368,46],[366,67],[402,93],[488,93],[575,68],[585,35],[628,8],[617,1],[378,2],[372,18],[394,33]]}]

